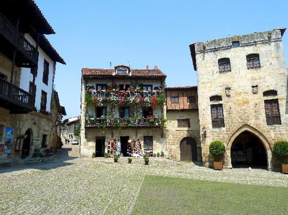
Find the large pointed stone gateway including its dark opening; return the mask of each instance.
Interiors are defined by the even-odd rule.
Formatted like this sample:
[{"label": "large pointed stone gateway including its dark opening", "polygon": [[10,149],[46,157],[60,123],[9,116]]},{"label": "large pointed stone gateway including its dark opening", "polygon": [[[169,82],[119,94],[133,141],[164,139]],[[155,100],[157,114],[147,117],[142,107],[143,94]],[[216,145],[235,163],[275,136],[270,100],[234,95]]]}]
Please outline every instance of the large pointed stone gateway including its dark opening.
[{"label": "large pointed stone gateway including its dark opening", "polygon": [[271,170],[272,147],[261,132],[243,125],[228,141],[224,165],[228,168],[257,166]]}]

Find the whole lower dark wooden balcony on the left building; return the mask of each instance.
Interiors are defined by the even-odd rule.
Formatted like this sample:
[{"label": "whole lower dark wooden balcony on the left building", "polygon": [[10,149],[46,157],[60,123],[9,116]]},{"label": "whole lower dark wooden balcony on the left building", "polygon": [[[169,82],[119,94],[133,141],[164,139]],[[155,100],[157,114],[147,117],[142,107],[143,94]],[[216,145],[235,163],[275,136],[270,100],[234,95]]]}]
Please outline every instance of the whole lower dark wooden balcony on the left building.
[{"label": "whole lower dark wooden balcony on the left building", "polygon": [[32,94],[0,78],[0,106],[10,113],[28,113],[32,111]]}]

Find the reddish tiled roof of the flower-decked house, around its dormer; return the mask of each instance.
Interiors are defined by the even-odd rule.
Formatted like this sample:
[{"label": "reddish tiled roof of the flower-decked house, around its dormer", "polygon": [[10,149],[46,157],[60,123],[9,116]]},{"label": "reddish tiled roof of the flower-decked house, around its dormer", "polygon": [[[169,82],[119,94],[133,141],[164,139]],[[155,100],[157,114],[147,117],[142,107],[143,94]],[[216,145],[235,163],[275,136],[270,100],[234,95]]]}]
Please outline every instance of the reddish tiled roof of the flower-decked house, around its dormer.
[{"label": "reddish tiled roof of the flower-decked house, around its dormer", "polygon": [[[160,69],[131,69],[131,76],[138,77],[166,77]],[[82,75],[110,76],[115,69],[90,69],[82,68]],[[129,74],[116,74],[114,76],[129,76]]]}]

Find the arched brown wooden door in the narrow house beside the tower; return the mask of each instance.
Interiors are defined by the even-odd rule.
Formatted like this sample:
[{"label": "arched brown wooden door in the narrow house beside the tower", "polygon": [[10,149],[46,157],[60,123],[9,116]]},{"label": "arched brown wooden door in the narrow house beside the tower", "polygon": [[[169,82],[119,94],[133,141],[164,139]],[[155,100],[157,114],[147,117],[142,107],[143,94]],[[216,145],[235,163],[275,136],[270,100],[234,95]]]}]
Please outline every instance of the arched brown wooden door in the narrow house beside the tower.
[{"label": "arched brown wooden door in the narrow house beside the tower", "polygon": [[184,137],[180,142],[180,160],[198,160],[197,144],[192,137]]}]

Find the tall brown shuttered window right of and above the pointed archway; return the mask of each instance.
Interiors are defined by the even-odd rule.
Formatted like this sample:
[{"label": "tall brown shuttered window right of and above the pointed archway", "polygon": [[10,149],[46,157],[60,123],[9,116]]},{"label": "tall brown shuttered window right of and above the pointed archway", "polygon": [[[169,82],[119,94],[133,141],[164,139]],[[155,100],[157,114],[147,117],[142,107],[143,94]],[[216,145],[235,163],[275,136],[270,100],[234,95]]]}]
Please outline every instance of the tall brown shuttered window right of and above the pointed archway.
[{"label": "tall brown shuttered window right of and above the pointed archway", "polygon": [[264,100],[264,108],[267,125],[281,125],[278,98]]}]

